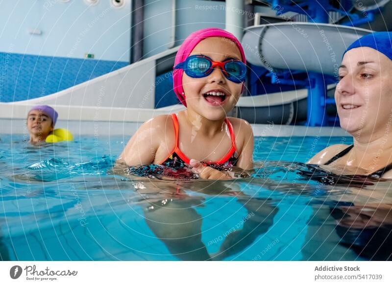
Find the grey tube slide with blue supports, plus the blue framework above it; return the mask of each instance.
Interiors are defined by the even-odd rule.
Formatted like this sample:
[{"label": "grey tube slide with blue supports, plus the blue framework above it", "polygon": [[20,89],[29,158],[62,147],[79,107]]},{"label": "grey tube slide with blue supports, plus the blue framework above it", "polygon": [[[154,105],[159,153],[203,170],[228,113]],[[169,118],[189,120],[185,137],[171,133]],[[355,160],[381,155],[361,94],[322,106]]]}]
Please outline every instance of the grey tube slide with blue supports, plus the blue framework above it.
[{"label": "grey tube slide with blue supports, plus the blue framework above it", "polygon": [[[252,96],[240,100],[239,117],[263,123],[269,112],[268,120],[276,123],[306,119],[305,124],[309,126],[334,125],[337,117],[333,86],[343,51],[371,31],[392,29],[392,19],[385,16],[392,12],[392,1],[268,2],[276,11],[276,17],[263,19],[260,15],[262,19],[256,20],[263,24],[246,28],[242,39],[253,72],[248,82]],[[295,14],[287,17],[287,12]],[[293,91],[284,92],[289,86],[293,86]],[[302,88],[307,90],[306,95]],[[264,93],[269,97],[279,96],[282,104],[276,100],[266,104],[265,98],[258,99],[266,96],[261,95]],[[252,101],[254,108],[251,108]],[[304,108],[305,101],[307,108]]]}]

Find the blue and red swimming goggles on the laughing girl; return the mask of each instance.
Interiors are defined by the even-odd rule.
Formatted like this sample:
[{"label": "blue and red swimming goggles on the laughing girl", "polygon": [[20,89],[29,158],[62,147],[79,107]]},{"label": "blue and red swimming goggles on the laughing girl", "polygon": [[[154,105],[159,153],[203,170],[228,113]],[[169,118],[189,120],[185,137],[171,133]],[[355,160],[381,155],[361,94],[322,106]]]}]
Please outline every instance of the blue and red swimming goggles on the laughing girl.
[{"label": "blue and red swimming goggles on the laughing girl", "polygon": [[223,75],[235,83],[241,83],[246,77],[246,65],[238,59],[228,59],[223,62],[212,61],[205,55],[191,55],[185,61],[177,64],[174,69],[183,69],[192,78],[206,77],[216,67],[220,67]]}]

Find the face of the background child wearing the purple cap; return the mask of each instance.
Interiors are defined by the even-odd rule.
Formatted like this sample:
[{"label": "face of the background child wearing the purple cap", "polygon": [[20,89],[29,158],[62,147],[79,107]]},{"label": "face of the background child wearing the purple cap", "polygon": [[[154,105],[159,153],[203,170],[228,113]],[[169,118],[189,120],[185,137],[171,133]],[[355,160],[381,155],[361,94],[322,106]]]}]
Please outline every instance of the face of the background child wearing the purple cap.
[{"label": "face of the background child wearing the purple cap", "polygon": [[27,128],[34,137],[41,137],[44,141],[51,131],[53,131],[52,119],[39,110],[32,110],[27,116]]}]

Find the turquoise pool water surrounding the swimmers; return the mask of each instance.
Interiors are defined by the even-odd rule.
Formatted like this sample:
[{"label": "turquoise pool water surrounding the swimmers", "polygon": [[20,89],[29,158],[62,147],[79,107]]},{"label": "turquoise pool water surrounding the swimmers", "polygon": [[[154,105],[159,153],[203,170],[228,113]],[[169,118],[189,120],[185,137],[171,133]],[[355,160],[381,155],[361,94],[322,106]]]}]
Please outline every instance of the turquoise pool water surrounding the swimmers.
[{"label": "turquoise pool water surrounding the swimmers", "polygon": [[256,138],[252,177],[225,182],[113,172],[121,136],[0,138],[2,260],[391,258],[390,182],[331,185],[301,164],[349,138]]}]

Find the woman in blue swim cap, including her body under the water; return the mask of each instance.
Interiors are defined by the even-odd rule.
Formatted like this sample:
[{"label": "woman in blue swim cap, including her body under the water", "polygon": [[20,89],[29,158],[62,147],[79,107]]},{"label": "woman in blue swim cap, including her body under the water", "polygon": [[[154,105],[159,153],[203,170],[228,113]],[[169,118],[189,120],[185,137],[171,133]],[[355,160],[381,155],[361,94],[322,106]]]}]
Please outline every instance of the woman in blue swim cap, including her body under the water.
[{"label": "woman in blue swim cap, including her body under the water", "polygon": [[[341,126],[354,137],[354,144],[329,146],[308,162],[323,168],[331,166],[329,170],[340,175],[360,174],[343,175],[347,182],[350,176],[374,178],[373,182],[381,177],[392,178],[391,41],[391,32],[376,32],[346,49],[335,100]],[[331,176],[331,184],[339,184],[339,180],[340,177]],[[339,202],[326,202],[314,209],[309,223],[324,218],[322,224],[330,226],[320,229],[314,225],[308,229],[302,250],[305,259],[336,260],[339,256],[340,260],[391,260],[389,187],[363,189],[371,184],[357,183],[355,188],[345,188],[345,195],[333,198]],[[315,250],[314,240],[322,240],[325,246]],[[328,244],[334,244],[335,256]]]}]

